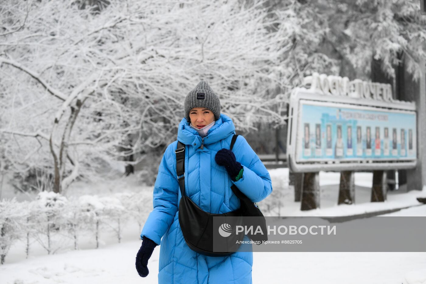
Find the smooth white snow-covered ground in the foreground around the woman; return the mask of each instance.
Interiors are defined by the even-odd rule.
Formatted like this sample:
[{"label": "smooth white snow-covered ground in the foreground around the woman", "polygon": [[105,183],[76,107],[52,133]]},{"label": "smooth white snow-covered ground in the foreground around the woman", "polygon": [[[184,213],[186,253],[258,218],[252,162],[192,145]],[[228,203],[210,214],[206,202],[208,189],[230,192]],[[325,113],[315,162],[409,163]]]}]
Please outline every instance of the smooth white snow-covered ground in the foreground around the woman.
[{"label": "smooth white snow-covered ground in the foreground around the woman", "polygon": [[[426,205],[392,213],[426,215]],[[140,241],[125,241],[101,249],[83,249],[5,264],[2,284],[157,283],[156,248],[140,278],[134,267]],[[253,283],[269,284],[426,284],[425,252],[256,252]]]}]

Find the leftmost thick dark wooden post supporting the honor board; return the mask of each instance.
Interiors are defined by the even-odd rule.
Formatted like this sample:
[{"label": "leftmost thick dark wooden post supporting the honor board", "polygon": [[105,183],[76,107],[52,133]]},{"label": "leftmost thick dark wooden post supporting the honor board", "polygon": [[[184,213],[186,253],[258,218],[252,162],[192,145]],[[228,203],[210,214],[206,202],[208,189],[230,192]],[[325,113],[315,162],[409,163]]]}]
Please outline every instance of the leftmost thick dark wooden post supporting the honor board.
[{"label": "leftmost thick dark wooden post supporting the honor board", "polygon": [[320,173],[304,173],[300,210],[320,208]]}]

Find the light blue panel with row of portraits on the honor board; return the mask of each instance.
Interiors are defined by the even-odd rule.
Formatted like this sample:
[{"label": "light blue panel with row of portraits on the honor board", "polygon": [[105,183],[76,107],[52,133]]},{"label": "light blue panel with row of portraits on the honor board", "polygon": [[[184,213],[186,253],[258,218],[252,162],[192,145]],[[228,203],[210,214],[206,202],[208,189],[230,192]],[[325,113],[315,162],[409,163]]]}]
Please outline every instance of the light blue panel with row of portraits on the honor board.
[{"label": "light blue panel with row of portraits on the honor board", "polygon": [[299,103],[297,162],[416,159],[414,111]]}]

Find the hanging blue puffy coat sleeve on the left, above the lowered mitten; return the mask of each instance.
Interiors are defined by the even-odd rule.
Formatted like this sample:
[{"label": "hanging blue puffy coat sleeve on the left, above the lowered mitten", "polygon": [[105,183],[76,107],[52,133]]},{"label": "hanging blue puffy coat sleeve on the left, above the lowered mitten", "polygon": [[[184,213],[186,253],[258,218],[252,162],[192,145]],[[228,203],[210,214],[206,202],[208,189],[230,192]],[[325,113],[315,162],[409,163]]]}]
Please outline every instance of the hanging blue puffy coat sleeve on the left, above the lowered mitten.
[{"label": "hanging blue puffy coat sleeve on the left, above the lowered mitten", "polygon": [[[157,179],[154,185],[153,211],[149,214],[141,232],[141,238],[146,236],[155,243],[160,244],[161,238],[173,223],[173,218],[178,210],[179,184],[175,174],[172,173],[173,159],[176,159],[173,144],[164,152],[158,168]],[[174,145],[176,149],[176,145]]]}]

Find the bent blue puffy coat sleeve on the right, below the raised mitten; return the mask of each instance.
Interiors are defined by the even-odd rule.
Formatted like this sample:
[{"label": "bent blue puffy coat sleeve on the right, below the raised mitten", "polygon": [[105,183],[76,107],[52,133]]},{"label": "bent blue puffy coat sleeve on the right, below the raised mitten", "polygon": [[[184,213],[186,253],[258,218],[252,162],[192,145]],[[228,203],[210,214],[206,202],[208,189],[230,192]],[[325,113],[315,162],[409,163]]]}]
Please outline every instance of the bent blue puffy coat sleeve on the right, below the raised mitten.
[{"label": "bent blue puffy coat sleeve on the right, below the raised mitten", "polygon": [[272,192],[271,177],[244,136],[237,137],[233,152],[244,169],[242,178],[233,183],[253,202],[265,199]]}]

